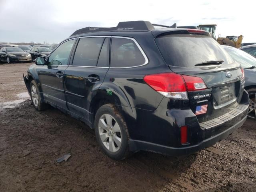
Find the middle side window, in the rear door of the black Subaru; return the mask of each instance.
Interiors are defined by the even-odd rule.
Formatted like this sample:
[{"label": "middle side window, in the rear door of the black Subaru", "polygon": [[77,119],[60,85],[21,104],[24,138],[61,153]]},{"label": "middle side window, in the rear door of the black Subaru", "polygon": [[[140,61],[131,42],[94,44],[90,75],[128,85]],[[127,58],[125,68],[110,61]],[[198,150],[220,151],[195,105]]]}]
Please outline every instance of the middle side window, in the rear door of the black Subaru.
[{"label": "middle side window, in the rear door of the black Subaru", "polygon": [[74,55],[73,66],[96,67],[104,37],[81,38]]}]

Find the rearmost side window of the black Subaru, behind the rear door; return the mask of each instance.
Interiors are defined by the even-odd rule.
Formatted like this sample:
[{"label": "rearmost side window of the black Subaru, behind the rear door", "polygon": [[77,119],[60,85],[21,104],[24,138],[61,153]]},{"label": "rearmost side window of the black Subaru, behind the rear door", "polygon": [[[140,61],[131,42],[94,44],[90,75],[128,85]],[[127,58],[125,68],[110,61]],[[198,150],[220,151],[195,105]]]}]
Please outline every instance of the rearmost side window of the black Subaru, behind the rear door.
[{"label": "rearmost side window of the black Subaru, behind the rear door", "polygon": [[146,60],[136,43],[127,38],[112,38],[111,67],[134,67],[145,64]]}]

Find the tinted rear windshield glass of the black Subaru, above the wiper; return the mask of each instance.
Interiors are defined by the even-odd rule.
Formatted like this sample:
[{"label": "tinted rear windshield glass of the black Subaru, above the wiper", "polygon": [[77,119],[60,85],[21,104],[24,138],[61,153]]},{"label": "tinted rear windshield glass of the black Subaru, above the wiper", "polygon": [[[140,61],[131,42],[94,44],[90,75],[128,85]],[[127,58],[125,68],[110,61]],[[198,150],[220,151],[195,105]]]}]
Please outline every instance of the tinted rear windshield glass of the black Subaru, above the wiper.
[{"label": "tinted rear windshield glass of the black Subaru, above the wiper", "polygon": [[194,67],[211,60],[224,60],[222,64],[233,62],[216,40],[205,35],[165,35],[156,38],[156,44],[170,66]]}]

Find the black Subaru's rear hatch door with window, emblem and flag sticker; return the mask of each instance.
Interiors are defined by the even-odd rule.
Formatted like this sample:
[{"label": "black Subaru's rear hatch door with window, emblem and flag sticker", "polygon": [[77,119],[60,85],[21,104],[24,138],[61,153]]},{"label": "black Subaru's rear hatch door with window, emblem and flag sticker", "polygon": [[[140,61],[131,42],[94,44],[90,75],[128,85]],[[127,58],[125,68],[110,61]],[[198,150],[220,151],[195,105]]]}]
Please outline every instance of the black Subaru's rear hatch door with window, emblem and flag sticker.
[{"label": "black Subaru's rear hatch door with window, emblem and flag sticker", "polygon": [[190,108],[199,122],[225,114],[239,104],[243,93],[240,64],[209,33],[176,30],[156,35],[155,41],[173,72],[204,80],[207,89],[188,92]]}]

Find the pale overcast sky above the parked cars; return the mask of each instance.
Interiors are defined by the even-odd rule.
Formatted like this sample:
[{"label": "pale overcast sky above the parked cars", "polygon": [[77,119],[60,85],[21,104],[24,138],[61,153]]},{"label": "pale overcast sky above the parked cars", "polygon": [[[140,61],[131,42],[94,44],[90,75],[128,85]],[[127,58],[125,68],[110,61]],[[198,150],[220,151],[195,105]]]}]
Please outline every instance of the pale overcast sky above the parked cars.
[{"label": "pale overcast sky above the parked cars", "polygon": [[147,20],[178,26],[217,24],[216,36],[256,42],[256,1],[243,0],[0,0],[0,42],[58,43],[86,26]]}]

